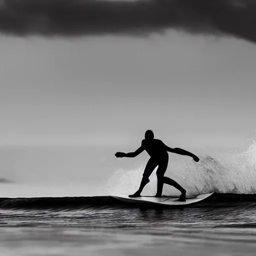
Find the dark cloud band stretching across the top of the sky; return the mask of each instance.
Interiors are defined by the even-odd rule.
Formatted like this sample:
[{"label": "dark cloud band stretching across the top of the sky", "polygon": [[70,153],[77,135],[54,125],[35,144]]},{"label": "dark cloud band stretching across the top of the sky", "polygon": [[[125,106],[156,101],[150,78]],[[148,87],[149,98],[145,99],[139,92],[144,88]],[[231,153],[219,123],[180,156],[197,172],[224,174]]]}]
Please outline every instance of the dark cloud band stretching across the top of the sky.
[{"label": "dark cloud band stretching across the top of the sky", "polygon": [[166,29],[256,42],[255,0],[5,0],[0,32],[13,35],[148,35]]}]

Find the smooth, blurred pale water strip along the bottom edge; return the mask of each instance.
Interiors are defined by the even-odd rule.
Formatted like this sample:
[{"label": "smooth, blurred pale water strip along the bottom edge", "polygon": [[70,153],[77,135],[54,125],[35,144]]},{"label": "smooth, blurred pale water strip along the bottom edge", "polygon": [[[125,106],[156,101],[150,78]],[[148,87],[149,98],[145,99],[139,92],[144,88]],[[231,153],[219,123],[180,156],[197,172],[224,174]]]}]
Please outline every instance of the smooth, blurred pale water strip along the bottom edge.
[{"label": "smooth, blurred pale water strip along the bottom edge", "polygon": [[254,230],[0,228],[2,255],[255,255]]}]

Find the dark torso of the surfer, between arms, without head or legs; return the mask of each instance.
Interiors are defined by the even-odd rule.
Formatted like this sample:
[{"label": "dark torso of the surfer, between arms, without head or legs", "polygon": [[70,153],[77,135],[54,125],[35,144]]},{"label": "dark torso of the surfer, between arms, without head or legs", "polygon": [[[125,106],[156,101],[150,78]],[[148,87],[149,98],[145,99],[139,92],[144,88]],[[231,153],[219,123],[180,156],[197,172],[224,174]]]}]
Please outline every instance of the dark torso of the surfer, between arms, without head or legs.
[{"label": "dark torso of the surfer, between arms, without head or legs", "polygon": [[143,139],[141,146],[152,158],[161,159],[168,157],[165,144],[160,139]]}]

